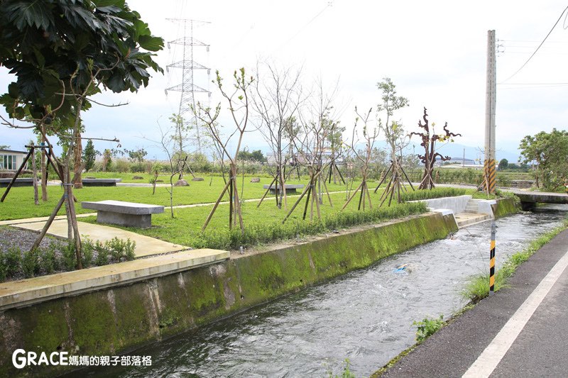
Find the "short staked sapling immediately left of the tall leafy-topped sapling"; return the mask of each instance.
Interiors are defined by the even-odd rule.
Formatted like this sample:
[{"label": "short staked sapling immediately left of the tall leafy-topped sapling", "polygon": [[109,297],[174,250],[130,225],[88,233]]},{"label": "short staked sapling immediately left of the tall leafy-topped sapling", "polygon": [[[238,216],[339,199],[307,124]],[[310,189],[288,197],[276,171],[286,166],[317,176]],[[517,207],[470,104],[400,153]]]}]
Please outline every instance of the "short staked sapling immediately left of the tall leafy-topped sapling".
[{"label": "short staked sapling immediately left of the tall leafy-topped sapling", "polygon": [[[347,205],[349,205],[349,202],[351,202],[351,200],[354,198],[355,194],[359,190],[361,190],[361,192],[359,195],[359,205],[357,206],[357,210],[361,209],[363,211],[365,210],[366,200],[368,200],[368,207],[370,209],[373,209],[373,204],[371,202],[371,194],[369,194],[368,192],[367,178],[368,178],[369,163],[371,162],[371,158],[373,157],[373,147],[375,145],[376,139],[378,138],[379,129],[378,127],[370,128],[368,125],[369,117],[371,116],[372,111],[373,108],[369,109],[367,113],[361,114],[359,113],[357,107],[355,106],[355,113],[356,113],[355,126],[353,127],[353,134],[351,136],[351,144],[349,145],[349,148],[351,149],[351,152],[353,152],[355,159],[359,162],[359,167],[361,169],[361,184],[359,184],[359,187],[357,187],[357,189],[355,189],[355,191],[353,192],[353,194],[351,194],[349,199],[347,199],[347,201],[342,207],[342,210],[345,209]],[[363,140],[365,141],[364,151],[357,150],[356,147],[361,141],[361,139],[359,138],[359,132],[357,126],[359,120],[361,120],[362,123],[361,135],[363,137]]]}]

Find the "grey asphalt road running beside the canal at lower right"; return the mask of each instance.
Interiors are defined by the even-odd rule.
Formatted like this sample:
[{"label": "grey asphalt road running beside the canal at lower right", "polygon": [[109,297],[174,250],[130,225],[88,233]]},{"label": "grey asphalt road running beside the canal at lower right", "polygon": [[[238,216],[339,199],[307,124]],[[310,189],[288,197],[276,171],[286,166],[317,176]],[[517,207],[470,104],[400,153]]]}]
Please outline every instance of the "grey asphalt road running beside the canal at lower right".
[{"label": "grey asphalt road running beside the canal at lower right", "polygon": [[[543,278],[567,254],[568,230],[564,230],[517,269],[509,288],[484,299],[439,330],[382,377],[461,377],[533,291],[542,291],[542,285],[537,287]],[[491,358],[495,360],[490,377],[568,377],[568,269],[555,270],[559,272],[557,279],[552,280],[551,273],[544,280],[543,285],[550,283],[552,287],[542,301],[537,301],[528,321],[513,323],[516,326],[509,323],[492,344],[498,348],[506,343],[504,338],[514,340],[510,348],[503,349],[502,358],[489,353],[487,359],[478,362],[484,367],[490,365]],[[520,312],[525,308],[526,304]],[[516,313],[514,320],[518,316]],[[474,371],[471,376],[487,375]]]}]

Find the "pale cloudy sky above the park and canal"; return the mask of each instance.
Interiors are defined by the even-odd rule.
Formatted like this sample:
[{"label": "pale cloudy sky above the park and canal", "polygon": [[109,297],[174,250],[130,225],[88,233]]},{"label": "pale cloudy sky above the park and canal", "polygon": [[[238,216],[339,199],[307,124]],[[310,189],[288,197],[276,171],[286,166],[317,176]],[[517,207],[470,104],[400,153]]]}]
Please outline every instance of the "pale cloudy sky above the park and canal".
[{"label": "pale cloudy sky above the park and canal", "polygon": [[[487,31],[496,30],[497,108],[496,148],[518,155],[525,135],[553,127],[567,129],[568,20],[564,13],[546,42],[520,72],[568,6],[565,1],[128,1],[141,13],[153,34],[166,41],[180,38],[180,23],[166,18],[209,21],[194,29],[194,37],[210,45],[195,48],[195,60],[219,70],[229,82],[234,70],[253,73],[257,62],[302,70],[302,87],[309,91],[317,79],[331,88],[338,85],[335,109],[342,125],[352,128],[354,107],[369,109],[380,102],[376,84],[390,77],[398,94],[410,106],[395,113],[408,131],[417,129],[423,108],[430,123],[461,133],[456,143],[483,149],[486,99]],[[156,4],[159,4],[157,6]],[[178,45],[166,45],[155,59],[161,67],[181,59]],[[94,105],[84,113],[85,137],[118,138],[123,148],[146,148],[148,158],[163,153],[158,123],[178,112],[180,94],[164,89],[179,84],[180,70],[152,73],[148,87],[138,93],[98,95],[106,108]],[[198,94],[213,106],[222,98],[209,84],[207,72],[195,73],[195,84],[208,87],[212,96]],[[509,78],[510,77],[510,78]],[[13,80],[0,67],[0,93]],[[3,113],[4,115],[5,113]],[[231,128],[226,103],[219,118]],[[0,145],[20,150],[31,133],[0,126]],[[351,135],[349,133],[349,135]],[[418,143],[415,140],[415,143]],[[247,133],[249,150],[266,143],[258,133]],[[95,141],[95,148],[116,143]],[[471,149],[473,150],[473,149]],[[443,153],[443,150],[440,152]],[[475,158],[476,156],[467,156]]]}]

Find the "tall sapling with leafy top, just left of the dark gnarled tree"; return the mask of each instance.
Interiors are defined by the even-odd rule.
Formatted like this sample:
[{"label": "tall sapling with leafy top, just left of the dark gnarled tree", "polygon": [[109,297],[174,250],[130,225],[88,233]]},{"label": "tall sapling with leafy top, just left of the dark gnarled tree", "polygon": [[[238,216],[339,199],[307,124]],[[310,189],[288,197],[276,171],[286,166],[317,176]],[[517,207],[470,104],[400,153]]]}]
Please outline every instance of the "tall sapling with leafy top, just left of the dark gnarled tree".
[{"label": "tall sapling with leafy top, just left of the dark gnarled tree", "polygon": [[[403,176],[412,187],[410,179],[408,179],[404,172],[403,165],[399,157],[404,145],[408,145],[405,130],[400,121],[393,121],[391,119],[394,116],[395,111],[408,106],[408,99],[403,96],[397,96],[396,86],[388,77],[384,77],[382,82],[378,82],[377,87],[382,94],[382,102],[377,106],[378,127],[383,131],[388,147],[390,148],[391,166],[387,169],[387,172],[381,179],[381,182],[379,182],[375,188],[375,193],[378,188],[381,187],[381,184],[388,179],[386,189],[383,191],[383,194],[381,194],[381,204],[379,206],[383,206],[386,199],[388,199],[388,206],[391,206],[393,197],[397,202],[402,201],[400,196],[401,191],[406,190],[403,184]],[[381,118],[382,113],[386,115],[384,123]],[[395,196],[395,194],[397,195]]]}]

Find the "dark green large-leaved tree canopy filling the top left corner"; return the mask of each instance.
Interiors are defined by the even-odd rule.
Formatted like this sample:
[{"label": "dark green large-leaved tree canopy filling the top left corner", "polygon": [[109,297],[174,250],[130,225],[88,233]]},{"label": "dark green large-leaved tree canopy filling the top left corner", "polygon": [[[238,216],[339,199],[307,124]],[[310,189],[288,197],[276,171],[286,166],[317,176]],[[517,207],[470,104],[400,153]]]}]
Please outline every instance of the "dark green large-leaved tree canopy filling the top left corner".
[{"label": "dark green large-leaved tree canopy filling the top left corner", "polygon": [[148,69],[162,72],[151,53],[162,48],[124,0],[1,0],[0,65],[17,80],[0,104],[14,118],[72,127],[72,94],[146,87]]}]

